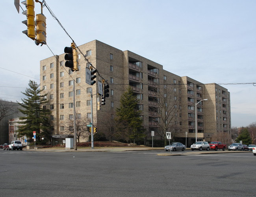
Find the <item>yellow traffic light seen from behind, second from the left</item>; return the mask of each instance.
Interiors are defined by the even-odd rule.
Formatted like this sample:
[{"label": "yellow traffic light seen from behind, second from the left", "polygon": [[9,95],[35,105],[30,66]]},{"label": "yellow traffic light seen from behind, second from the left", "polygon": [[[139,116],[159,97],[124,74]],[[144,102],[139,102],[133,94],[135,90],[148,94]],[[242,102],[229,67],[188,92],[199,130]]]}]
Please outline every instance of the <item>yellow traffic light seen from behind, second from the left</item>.
[{"label": "yellow traffic light seen from behind, second from the left", "polygon": [[35,44],[39,45],[41,44],[46,44],[46,17],[45,15],[38,14],[36,15],[37,19],[35,20],[36,23],[36,33],[37,33],[37,38],[35,40]]}]

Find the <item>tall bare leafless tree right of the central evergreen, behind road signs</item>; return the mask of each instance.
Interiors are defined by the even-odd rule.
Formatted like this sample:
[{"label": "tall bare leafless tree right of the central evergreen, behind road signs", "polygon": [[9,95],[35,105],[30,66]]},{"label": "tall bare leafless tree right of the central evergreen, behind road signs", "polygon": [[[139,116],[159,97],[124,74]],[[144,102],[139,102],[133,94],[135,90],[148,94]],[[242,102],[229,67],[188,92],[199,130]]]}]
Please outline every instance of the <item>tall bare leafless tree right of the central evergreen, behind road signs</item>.
[{"label": "tall bare leafless tree right of the central evergreen, behind road signs", "polygon": [[157,106],[160,119],[160,121],[157,120],[160,127],[157,134],[165,139],[166,144],[166,132],[171,131],[175,135],[178,128],[176,120],[180,99],[174,95],[174,87],[170,85],[158,86],[156,96],[158,97]]}]

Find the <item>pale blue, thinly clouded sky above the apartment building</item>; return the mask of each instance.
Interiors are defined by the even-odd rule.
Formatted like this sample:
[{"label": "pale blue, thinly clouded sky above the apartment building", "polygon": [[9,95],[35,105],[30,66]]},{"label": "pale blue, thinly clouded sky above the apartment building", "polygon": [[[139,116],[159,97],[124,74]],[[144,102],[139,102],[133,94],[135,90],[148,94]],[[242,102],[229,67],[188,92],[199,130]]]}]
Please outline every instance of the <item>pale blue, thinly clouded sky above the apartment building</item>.
[{"label": "pale blue, thinly clouded sky above the apartment building", "polygon": [[[44,7],[46,42],[52,52],[45,45],[36,46],[22,33],[26,16],[21,9],[18,14],[14,0],[1,3],[0,99],[16,102],[30,79],[40,83],[40,60],[52,52],[64,53],[72,40]],[[181,77],[220,84],[230,91],[232,126],[256,122],[255,0],[46,0],[46,4],[78,46],[99,40]],[[40,12],[35,3],[35,13]]]}]

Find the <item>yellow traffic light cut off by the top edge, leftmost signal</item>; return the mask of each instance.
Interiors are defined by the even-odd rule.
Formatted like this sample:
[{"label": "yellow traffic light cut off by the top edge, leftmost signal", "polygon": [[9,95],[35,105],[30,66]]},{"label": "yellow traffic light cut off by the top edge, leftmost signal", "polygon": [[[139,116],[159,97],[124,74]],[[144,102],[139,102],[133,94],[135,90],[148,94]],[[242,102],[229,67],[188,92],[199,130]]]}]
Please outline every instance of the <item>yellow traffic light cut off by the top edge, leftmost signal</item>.
[{"label": "yellow traffic light cut off by the top edge, leftmost signal", "polygon": [[22,12],[23,15],[27,16],[27,20],[22,21],[27,27],[27,30],[22,31],[22,33],[26,34],[32,40],[35,40],[35,4],[34,0],[26,0],[21,2],[26,5],[26,10]]}]

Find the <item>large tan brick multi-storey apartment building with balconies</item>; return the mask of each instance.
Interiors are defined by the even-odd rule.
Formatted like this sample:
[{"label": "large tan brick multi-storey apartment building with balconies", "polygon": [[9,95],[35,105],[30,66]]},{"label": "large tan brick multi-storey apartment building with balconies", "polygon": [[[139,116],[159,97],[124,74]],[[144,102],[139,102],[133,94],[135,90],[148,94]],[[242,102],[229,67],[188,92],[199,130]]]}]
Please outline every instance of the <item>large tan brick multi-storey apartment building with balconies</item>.
[{"label": "large tan brick multi-storey apartment building with balconies", "polygon": [[[93,40],[79,46],[89,62],[109,83],[109,97],[106,105],[97,110],[98,81],[90,86],[85,83],[85,67],[89,64],[81,54],[79,71],[72,72],[64,65],[65,54],[56,55],[40,61],[40,80],[42,92],[48,93],[50,101],[46,108],[52,111],[51,125],[53,138],[61,141],[67,119],[73,114],[73,79],[75,80],[75,104],[78,116],[91,116],[91,94],[93,91],[94,124],[98,131],[105,131],[103,120],[115,117],[120,97],[131,86],[139,99],[137,108],[141,110],[143,126],[150,138],[151,131],[161,135],[161,127],[171,122],[169,131],[174,140],[187,146],[195,142],[195,108],[197,107],[197,140],[222,140],[231,142],[230,93],[218,84],[202,84],[189,77],[180,77],[163,69],[163,66],[141,57],[131,51],[121,51],[115,47]],[[167,99],[168,102],[167,102]],[[207,101],[200,100],[208,99]],[[161,101],[164,105],[160,106]],[[198,103],[198,104],[197,104]],[[197,105],[196,105],[197,104]],[[167,108],[165,108],[167,106]],[[164,111],[166,110],[166,111]],[[169,114],[169,120],[165,115]],[[56,141],[53,140],[53,141]]]}]

